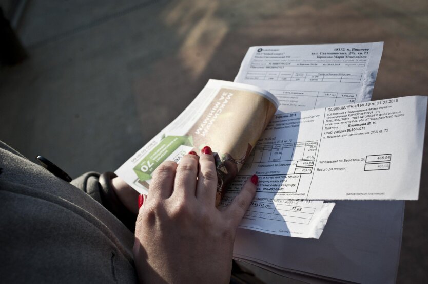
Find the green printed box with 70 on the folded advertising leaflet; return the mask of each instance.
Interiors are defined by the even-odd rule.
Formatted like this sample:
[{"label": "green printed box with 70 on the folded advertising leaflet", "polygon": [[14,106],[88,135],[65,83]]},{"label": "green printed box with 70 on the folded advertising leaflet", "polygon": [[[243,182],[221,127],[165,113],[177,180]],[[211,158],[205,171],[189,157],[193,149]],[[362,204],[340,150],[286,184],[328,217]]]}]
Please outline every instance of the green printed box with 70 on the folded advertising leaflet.
[{"label": "green printed box with 70 on the folded advertising leaflet", "polygon": [[153,171],[181,145],[193,146],[191,136],[166,136],[134,168],[140,181],[151,179]]}]

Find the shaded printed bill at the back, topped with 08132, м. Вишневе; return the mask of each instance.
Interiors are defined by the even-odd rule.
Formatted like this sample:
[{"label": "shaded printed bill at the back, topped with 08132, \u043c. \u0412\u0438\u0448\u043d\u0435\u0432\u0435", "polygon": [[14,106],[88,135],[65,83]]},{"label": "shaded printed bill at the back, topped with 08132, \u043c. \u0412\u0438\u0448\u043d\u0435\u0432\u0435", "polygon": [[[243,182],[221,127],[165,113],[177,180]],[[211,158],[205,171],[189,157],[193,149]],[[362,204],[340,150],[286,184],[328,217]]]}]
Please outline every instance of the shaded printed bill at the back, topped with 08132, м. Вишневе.
[{"label": "shaded printed bill at the back, topped with 08132, \u043c. \u0412\u0438\u0448\u043d\u0435\u0432\u0435", "polygon": [[249,48],[235,82],[277,96],[297,112],[372,98],[383,42]]}]

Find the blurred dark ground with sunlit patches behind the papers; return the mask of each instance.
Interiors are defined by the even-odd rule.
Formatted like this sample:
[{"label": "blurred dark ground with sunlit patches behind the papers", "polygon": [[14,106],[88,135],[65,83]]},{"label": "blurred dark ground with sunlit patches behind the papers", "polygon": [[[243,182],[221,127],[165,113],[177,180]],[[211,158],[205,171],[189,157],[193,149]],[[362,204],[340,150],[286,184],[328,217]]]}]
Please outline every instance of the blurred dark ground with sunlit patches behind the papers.
[{"label": "blurred dark ground with sunlit patches behind the papers", "polygon": [[[28,1],[17,33],[30,57],[0,68],[0,139],[72,177],[118,168],[209,78],[233,80],[249,46],[384,41],[373,100],[428,95],[425,0],[40,0]],[[399,283],[428,276],[427,146],[425,134]]]}]

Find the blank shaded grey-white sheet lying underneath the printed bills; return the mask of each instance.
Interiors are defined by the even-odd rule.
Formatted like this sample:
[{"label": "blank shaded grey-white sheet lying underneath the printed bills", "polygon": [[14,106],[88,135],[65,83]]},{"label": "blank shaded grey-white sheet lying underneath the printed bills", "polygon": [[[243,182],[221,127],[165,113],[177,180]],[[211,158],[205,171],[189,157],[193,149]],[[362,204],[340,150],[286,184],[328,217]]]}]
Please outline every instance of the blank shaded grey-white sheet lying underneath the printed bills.
[{"label": "blank shaded grey-white sheet lying underneath the printed bills", "polygon": [[320,239],[239,229],[234,257],[309,283],[395,283],[403,216],[404,201],[337,201]]}]

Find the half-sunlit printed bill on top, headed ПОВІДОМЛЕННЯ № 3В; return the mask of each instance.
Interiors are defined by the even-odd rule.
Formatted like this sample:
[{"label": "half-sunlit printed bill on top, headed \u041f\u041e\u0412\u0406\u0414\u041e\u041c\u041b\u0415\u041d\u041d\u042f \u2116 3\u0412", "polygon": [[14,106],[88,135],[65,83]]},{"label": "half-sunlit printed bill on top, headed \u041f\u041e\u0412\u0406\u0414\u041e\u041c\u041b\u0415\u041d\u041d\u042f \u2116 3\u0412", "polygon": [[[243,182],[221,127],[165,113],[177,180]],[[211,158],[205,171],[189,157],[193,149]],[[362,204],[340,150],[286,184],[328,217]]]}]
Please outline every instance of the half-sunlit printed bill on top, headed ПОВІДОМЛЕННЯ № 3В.
[{"label": "half-sunlit printed bill on top, headed \u041f\u041e\u0412\u0406\u0414\u041e\u041c\u041b\u0415\u041d\u041d\u042f \u2116 3\u0412", "polygon": [[257,198],[417,200],[427,97],[276,115],[227,194],[259,176]]}]

